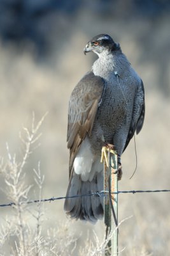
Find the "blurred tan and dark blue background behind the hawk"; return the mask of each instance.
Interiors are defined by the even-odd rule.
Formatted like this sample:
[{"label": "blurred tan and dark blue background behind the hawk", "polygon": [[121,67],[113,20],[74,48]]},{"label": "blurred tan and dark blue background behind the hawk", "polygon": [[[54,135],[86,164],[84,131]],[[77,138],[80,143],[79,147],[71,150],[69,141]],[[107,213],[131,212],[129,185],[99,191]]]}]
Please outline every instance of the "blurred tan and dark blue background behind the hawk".
[{"label": "blurred tan and dark blue background behind the hawk", "polygon": [[[43,198],[64,196],[68,183],[67,105],[71,92],[96,56],[83,55],[93,36],[108,33],[119,42],[145,85],[146,118],[122,156],[119,190],[170,188],[170,2],[167,0],[1,0],[0,1],[0,155],[22,155],[18,132],[48,111],[41,127],[41,146],[27,163],[27,182],[41,161]],[[1,188],[4,181],[1,180]],[[33,195],[32,195],[33,196]],[[0,200],[6,202],[1,192]],[[66,221],[64,201],[46,204],[46,227]],[[170,194],[119,196],[121,255],[170,255]],[[1,209],[1,218],[9,209]],[[96,225],[74,221],[80,234],[74,255],[87,234],[103,235]],[[89,230],[89,231],[88,231]]]}]

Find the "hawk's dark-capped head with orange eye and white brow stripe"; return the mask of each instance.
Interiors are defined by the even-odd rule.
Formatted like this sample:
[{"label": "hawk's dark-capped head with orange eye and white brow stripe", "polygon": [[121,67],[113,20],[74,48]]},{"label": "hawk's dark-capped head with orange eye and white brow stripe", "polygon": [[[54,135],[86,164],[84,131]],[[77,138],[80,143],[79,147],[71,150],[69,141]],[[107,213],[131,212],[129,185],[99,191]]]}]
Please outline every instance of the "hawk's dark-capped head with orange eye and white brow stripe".
[{"label": "hawk's dark-capped head with orange eye and white brow stripe", "polygon": [[84,54],[87,52],[94,52],[100,56],[103,52],[111,52],[118,49],[120,49],[120,45],[115,43],[111,36],[107,34],[100,34],[94,36],[87,45],[85,45],[83,52]]}]

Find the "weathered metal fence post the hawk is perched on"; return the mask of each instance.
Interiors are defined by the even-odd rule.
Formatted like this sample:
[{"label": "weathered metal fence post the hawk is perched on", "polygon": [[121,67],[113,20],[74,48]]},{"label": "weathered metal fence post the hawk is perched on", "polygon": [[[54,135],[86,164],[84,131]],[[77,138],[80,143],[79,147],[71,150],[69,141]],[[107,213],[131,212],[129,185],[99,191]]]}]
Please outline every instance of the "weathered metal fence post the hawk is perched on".
[{"label": "weathered metal fence post the hawk is perched on", "polygon": [[[117,152],[113,149],[108,150],[108,166],[106,159],[104,159],[104,191],[116,192],[118,191],[117,179]],[[111,202],[113,209],[111,209]],[[115,214],[115,218],[113,216]],[[105,256],[118,255],[118,194],[108,193],[104,196],[104,224],[106,225],[106,239],[107,236],[112,234],[111,239],[105,251]],[[115,231],[114,231],[115,230]]]}]

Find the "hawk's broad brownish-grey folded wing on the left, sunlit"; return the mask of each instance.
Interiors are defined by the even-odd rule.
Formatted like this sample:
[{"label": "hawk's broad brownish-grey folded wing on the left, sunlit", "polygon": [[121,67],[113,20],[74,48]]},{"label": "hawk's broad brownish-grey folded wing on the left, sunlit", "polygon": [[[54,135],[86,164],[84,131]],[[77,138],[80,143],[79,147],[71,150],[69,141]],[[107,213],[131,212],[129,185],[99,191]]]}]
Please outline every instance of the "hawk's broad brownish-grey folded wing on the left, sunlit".
[{"label": "hawk's broad brownish-grey folded wing on the left, sunlit", "polygon": [[71,93],[67,127],[67,147],[70,149],[69,176],[82,141],[87,134],[90,136],[103,92],[104,80],[93,72],[88,72]]}]

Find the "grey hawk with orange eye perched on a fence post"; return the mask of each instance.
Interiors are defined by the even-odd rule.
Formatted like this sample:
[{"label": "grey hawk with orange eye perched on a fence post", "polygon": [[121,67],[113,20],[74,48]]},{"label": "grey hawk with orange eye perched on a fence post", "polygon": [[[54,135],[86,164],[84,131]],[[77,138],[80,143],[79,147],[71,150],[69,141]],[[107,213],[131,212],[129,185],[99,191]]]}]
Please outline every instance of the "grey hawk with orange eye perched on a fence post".
[{"label": "grey hawk with orange eye perched on a fence post", "polygon": [[[103,190],[101,149],[114,145],[120,157],[129,141],[143,127],[145,94],[143,82],[111,36],[94,36],[84,53],[99,58],[76,85],[69,99],[67,147],[69,185],[67,196]],[[64,210],[76,220],[96,223],[103,218],[103,197],[66,198]]]}]

